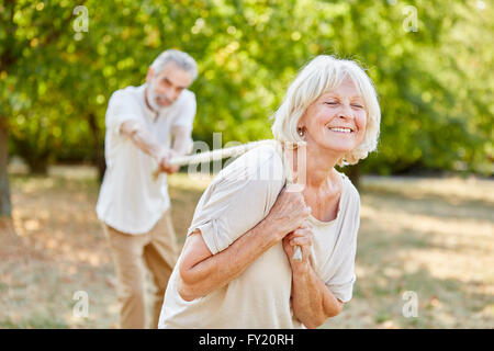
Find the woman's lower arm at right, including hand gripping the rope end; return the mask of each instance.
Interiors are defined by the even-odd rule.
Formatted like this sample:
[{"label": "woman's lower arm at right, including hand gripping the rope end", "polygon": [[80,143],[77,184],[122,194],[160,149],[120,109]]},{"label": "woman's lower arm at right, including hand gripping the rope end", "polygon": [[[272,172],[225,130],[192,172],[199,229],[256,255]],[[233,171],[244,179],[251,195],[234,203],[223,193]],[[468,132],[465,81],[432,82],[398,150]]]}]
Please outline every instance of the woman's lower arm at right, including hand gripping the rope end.
[{"label": "woman's lower arm at right, including hand gripping the rope end", "polygon": [[[293,248],[302,248],[302,261],[294,261]],[[307,328],[321,326],[327,318],[337,316],[344,303],[333,295],[321,281],[311,264],[312,231],[300,228],[283,239],[283,248],[292,267],[292,307],[293,313]]]}]

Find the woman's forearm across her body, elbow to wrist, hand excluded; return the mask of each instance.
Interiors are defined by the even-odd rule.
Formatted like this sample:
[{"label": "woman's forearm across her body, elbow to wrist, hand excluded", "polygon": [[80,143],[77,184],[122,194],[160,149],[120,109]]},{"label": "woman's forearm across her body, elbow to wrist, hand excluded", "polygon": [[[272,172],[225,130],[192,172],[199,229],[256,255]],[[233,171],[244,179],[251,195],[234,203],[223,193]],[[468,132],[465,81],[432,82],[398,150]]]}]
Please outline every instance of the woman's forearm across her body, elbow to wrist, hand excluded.
[{"label": "woman's forearm across her body, elbow to wrist, hand excluded", "polygon": [[[195,235],[200,236],[200,234]],[[282,236],[273,233],[269,223],[261,220],[220,253],[211,256],[210,252],[207,258],[192,267],[187,262],[181,262],[179,294],[183,299],[192,301],[225,286],[281,239]],[[200,238],[200,240],[203,239]],[[191,245],[190,247],[198,246]],[[186,242],[186,254],[187,250]],[[197,257],[197,254],[190,256]]]}]

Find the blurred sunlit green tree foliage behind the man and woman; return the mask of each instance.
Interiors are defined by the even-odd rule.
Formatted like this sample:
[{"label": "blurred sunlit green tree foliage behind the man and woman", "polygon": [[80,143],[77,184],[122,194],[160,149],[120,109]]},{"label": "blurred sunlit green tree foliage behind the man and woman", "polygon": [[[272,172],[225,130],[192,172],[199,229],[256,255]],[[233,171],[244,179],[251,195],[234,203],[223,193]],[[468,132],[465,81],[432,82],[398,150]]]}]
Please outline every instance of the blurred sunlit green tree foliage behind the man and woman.
[{"label": "blurred sunlit green tree foliage behind the man and woman", "polygon": [[[491,3],[0,3],[0,116],[11,154],[34,171],[49,161],[101,161],[110,95],[143,83],[153,59],[175,47],[199,63],[194,139],[270,137],[268,118],[290,81],[314,56],[332,54],[360,61],[379,92],[381,140],[364,172],[492,172]],[[77,5],[88,11],[88,32],[75,31]]]}]

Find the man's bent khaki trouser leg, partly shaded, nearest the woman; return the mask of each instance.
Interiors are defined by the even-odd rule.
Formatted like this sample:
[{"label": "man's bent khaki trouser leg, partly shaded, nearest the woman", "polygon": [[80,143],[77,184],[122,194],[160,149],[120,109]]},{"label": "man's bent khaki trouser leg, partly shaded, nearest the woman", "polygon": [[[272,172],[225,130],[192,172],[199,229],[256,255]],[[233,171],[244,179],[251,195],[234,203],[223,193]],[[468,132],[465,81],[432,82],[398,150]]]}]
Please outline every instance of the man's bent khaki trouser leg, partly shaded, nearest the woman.
[{"label": "man's bent khaki trouser leg, partly shaded, nearest the woman", "polygon": [[144,248],[144,258],[156,285],[151,328],[157,328],[165,291],[179,254],[170,210],[149,234],[150,242]]}]

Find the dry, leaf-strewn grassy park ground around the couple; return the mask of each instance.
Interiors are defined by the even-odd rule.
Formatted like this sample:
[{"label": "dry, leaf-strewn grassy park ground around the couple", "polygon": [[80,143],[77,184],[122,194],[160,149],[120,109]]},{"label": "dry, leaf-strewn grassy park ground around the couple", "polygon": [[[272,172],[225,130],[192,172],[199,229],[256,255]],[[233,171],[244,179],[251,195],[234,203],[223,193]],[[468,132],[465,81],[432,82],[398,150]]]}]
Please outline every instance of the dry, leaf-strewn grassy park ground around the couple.
[{"label": "dry, leaf-strewn grassy park ground around the couple", "polygon": [[[46,177],[11,171],[0,328],[117,327],[96,179],[88,167],[53,167]],[[209,181],[169,178],[180,246]],[[360,194],[353,298],[322,328],[493,328],[494,181],[364,177]],[[77,292],[87,293],[88,317],[74,313]]]}]

